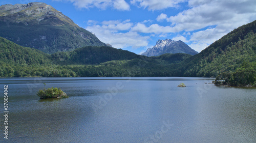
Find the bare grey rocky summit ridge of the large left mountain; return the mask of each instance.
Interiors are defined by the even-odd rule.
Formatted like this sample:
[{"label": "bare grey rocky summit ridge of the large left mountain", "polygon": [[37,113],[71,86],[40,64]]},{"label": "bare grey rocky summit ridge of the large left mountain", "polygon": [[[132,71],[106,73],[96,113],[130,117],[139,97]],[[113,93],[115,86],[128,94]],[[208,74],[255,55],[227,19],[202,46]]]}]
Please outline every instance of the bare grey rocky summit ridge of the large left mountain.
[{"label": "bare grey rocky summit ridge of the large left mountain", "polygon": [[[57,11],[52,6],[47,5],[46,3],[28,3],[28,4],[15,4],[15,5],[2,5],[0,6],[0,19],[8,17],[7,22],[19,23],[22,22],[25,25],[28,24],[44,24],[40,23],[42,20],[51,18],[55,16],[63,23],[61,24],[70,24],[75,27],[79,27],[73,22],[69,17],[63,15],[60,11]],[[59,21],[58,21],[59,22]],[[66,23],[65,23],[66,22]],[[60,23],[51,23],[51,24],[60,24]]]}]

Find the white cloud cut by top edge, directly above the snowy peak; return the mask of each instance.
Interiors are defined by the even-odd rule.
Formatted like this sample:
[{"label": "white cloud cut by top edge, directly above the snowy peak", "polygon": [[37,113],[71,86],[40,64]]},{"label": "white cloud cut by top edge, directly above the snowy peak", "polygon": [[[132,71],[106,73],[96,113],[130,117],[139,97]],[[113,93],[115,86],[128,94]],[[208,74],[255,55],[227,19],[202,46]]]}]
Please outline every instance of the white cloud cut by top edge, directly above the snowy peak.
[{"label": "white cloud cut by top edge, directly above the snowy peak", "polygon": [[178,4],[182,2],[185,2],[185,0],[132,0],[131,4],[154,11],[178,7]]}]

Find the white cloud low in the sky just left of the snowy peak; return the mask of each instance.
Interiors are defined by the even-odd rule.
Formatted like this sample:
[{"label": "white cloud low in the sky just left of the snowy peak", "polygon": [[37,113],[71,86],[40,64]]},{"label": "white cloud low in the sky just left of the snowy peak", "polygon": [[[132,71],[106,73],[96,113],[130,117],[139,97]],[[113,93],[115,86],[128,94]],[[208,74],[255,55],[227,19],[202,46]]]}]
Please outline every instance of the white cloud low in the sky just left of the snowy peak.
[{"label": "white cloud low in the sky just left of the snowy peak", "polygon": [[[148,45],[149,36],[141,36],[137,32],[129,31],[133,23],[130,20],[103,21],[101,24],[86,27],[104,43],[110,43],[115,48],[139,48]],[[120,32],[126,30],[126,32]]]}]

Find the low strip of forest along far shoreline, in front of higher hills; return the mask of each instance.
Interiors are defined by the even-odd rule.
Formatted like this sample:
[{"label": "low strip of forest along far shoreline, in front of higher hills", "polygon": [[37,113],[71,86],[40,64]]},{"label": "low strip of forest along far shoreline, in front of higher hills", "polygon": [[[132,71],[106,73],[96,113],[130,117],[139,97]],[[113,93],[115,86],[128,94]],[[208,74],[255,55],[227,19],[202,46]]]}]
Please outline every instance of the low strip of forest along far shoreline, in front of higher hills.
[{"label": "low strip of forest along far shoreline, in front of higher hills", "polygon": [[0,66],[1,77],[73,77],[73,76],[175,76],[173,68],[133,59],[109,61],[100,65]]}]

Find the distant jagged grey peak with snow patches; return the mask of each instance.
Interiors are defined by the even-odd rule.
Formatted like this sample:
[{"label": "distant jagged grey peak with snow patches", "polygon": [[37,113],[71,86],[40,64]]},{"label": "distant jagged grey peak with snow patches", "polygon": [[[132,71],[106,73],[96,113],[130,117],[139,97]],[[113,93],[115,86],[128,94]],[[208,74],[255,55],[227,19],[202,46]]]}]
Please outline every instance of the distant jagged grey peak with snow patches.
[{"label": "distant jagged grey peak with snow patches", "polygon": [[173,41],[170,39],[158,40],[153,48],[148,48],[146,52],[141,55],[158,56],[164,53],[187,53],[195,55],[198,52],[191,49],[187,44],[182,41]]}]

